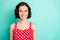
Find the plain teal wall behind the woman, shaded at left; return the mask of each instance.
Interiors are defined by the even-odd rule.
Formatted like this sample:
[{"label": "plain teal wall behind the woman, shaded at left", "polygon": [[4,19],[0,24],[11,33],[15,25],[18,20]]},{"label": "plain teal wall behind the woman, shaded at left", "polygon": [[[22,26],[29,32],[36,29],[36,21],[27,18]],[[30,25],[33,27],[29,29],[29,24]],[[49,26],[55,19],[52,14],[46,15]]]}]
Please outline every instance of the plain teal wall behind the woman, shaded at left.
[{"label": "plain teal wall behind the woman, shaded at left", "polygon": [[37,25],[37,40],[60,40],[60,0],[0,0],[0,40],[9,40],[10,25],[18,21],[14,8],[21,1],[32,9],[29,21]]}]

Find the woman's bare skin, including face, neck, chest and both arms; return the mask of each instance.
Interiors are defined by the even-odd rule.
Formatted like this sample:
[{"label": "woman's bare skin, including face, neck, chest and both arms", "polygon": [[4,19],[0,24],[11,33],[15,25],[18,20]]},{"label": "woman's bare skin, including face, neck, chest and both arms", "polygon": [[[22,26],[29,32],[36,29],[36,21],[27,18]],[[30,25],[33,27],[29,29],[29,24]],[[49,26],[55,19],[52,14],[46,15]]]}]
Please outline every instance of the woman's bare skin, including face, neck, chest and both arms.
[{"label": "woman's bare skin, including face, neck, chest and both arms", "polygon": [[[27,20],[28,17],[28,7],[23,5],[19,7],[19,16],[20,21],[17,22],[17,29],[25,30],[29,28],[29,21]],[[15,23],[11,24],[10,27],[10,40],[13,40],[13,30],[15,28]],[[36,40],[36,25],[32,23],[31,25],[32,30],[34,30],[33,38]]]}]

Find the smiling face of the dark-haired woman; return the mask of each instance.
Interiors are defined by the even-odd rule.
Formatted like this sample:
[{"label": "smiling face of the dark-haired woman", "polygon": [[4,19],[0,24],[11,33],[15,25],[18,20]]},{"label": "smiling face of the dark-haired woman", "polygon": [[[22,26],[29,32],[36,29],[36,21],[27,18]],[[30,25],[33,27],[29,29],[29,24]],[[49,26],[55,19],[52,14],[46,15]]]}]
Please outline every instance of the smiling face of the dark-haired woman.
[{"label": "smiling face of the dark-haired woman", "polygon": [[28,7],[27,6],[23,5],[23,6],[19,7],[19,17],[22,20],[27,19],[27,17],[28,17]]}]

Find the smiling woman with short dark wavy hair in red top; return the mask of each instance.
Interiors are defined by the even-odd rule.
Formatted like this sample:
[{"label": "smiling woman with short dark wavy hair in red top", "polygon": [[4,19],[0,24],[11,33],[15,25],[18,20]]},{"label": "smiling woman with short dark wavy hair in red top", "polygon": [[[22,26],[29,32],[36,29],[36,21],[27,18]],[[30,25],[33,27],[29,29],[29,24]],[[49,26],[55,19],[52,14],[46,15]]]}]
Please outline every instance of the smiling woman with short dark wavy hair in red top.
[{"label": "smiling woman with short dark wavy hair in red top", "polygon": [[20,2],[14,12],[20,21],[11,24],[10,40],[36,40],[36,25],[27,20],[31,18],[30,6],[26,2]]}]

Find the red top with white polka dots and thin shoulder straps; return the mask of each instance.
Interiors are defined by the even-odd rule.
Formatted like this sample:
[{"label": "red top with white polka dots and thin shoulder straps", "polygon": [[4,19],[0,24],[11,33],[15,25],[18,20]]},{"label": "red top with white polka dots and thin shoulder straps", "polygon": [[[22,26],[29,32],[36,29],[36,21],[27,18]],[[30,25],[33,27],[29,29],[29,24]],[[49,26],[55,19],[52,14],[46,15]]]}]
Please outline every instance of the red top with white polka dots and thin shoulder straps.
[{"label": "red top with white polka dots and thin shoulder straps", "polygon": [[30,27],[25,30],[20,30],[17,28],[17,23],[15,23],[15,28],[13,31],[13,40],[33,40],[33,30],[31,28],[31,22]]}]

